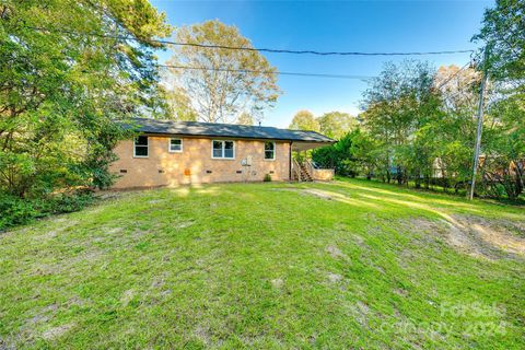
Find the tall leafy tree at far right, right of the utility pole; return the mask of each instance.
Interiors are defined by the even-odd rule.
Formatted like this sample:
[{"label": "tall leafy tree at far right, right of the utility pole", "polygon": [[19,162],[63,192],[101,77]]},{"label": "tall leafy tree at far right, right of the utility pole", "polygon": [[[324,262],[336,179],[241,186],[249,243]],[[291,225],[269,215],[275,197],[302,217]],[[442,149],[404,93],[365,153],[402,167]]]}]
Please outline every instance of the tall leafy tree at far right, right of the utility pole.
[{"label": "tall leafy tree at far right, right of the utility pole", "polygon": [[492,195],[511,199],[524,190],[525,164],[525,2],[499,0],[485,12],[481,31],[472,37],[489,50],[493,91],[487,106],[492,124],[483,129],[481,176]]}]

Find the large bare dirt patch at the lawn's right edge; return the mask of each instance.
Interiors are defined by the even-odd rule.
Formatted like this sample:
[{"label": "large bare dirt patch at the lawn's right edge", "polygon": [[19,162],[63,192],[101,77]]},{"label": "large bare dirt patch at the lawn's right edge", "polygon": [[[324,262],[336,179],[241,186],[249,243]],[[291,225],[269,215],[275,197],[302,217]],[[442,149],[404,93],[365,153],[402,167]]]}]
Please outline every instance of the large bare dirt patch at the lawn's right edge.
[{"label": "large bare dirt patch at the lawn's right edge", "polygon": [[525,258],[525,230],[520,222],[456,214],[450,221],[411,219],[410,225],[442,235],[448,245],[470,256],[489,260]]}]

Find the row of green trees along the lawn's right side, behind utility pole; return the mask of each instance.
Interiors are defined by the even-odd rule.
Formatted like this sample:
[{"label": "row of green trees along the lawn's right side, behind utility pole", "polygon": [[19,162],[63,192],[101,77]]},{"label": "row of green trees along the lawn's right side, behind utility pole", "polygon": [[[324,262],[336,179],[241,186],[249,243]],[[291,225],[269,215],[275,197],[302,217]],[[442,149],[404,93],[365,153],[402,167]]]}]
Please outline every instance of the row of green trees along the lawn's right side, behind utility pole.
[{"label": "row of green trees along the lawn's right side, behind utility pole", "polygon": [[314,152],[314,161],[345,175],[464,190],[472,172],[487,65],[477,195],[516,199],[525,185],[524,11],[524,1],[498,1],[486,12],[472,39],[490,50],[487,61],[478,54],[472,67],[463,69],[435,70],[421,61],[385,65],[363,93],[359,128]]}]

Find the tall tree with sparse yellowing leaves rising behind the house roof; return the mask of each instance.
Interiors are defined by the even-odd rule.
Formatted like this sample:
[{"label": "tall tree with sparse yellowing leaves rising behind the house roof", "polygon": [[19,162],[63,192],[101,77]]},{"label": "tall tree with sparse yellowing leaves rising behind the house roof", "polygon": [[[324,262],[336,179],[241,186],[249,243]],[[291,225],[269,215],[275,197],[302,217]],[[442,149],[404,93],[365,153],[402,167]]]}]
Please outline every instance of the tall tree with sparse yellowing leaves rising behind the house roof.
[{"label": "tall tree with sparse yellowing leaves rising behind the house roof", "polygon": [[[235,26],[217,20],[182,27],[176,37],[187,44],[253,48]],[[202,121],[235,122],[244,110],[260,120],[280,94],[276,68],[257,50],[175,46],[168,65],[186,67],[170,72]]]}]

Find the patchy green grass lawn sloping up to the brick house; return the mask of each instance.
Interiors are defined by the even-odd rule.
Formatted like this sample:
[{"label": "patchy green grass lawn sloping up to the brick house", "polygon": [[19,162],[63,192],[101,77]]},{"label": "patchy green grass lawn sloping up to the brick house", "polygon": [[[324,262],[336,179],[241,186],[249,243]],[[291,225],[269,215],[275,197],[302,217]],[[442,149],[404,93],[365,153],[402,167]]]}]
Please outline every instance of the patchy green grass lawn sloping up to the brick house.
[{"label": "patchy green grass lawn sloping up to the brick house", "polygon": [[523,207],[365,180],[109,195],[0,234],[0,348],[525,347]]}]

